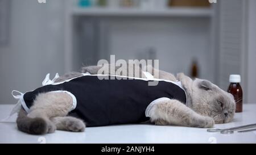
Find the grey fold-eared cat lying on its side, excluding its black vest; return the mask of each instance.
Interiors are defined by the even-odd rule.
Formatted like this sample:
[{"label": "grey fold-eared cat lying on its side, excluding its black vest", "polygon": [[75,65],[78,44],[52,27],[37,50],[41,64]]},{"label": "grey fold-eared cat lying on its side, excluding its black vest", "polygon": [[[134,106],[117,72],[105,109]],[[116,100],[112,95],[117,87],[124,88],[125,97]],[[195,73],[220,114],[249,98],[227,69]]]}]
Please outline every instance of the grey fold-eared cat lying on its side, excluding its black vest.
[{"label": "grey fold-eared cat lying on its side, excluding its black vest", "polygon": [[[82,73],[97,74],[98,70],[105,66],[86,66],[82,68]],[[134,67],[139,68],[139,66],[129,64],[127,70]],[[115,70],[117,69],[115,68]],[[143,69],[139,68],[139,70],[142,72]],[[232,121],[236,109],[233,95],[205,79],[192,80],[183,73],[179,73],[175,77],[171,73],[152,67],[151,71],[155,78],[180,81],[187,94],[187,104],[176,99],[162,100],[152,106],[150,122],[156,125],[210,128],[214,123]],[[82,73],[67,73],[57,78],[55,82],[81,77],[84,75]],[[110,72],[110,74],[115,73]],[[122,74],[118,76],[122,76]],[[133,74],[133,76],[136,75]],[[139,77],[144,78],[144,75],[140,74]],[[20,131],[35,135],[53,133],[56,129],[83,132],[86,122],[69,116],[71,108],[72,97],[67,93],[40,93],[36,96],[28,114],[24,108],[20,109],[16,123]]]}]

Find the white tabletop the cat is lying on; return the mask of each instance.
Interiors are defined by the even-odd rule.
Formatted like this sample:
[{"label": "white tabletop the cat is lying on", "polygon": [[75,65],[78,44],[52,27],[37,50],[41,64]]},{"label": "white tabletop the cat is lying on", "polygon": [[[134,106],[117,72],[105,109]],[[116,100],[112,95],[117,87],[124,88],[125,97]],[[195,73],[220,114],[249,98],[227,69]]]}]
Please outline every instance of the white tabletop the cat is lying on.
[{"label": "white tabletop the cat is lying on", "polygon": [[[0,119],[13,105],[0,105]],[[216,124],[216,128],[256,123],[256,104],[244,104],[232,123]],[[256,132],[223,135],[204,128],[158,126],[150,124],[90,127],[85,132],[56,131],[47,135],[28,135],[18,131],[15,116],[10,123],[0,123],[0,143],[256,143]]]}]

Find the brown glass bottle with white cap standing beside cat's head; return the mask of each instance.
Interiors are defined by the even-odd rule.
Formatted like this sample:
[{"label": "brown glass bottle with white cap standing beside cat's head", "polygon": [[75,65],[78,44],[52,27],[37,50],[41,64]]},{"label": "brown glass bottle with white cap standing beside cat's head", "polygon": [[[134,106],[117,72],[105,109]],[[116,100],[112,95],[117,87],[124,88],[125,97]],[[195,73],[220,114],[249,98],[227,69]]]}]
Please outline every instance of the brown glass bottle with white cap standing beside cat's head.
[{"label": "brown glass bottle with white cap standing beside cat's head", "polygon": [[229,77],[229,88],[228,93],[234,96],[234,100],[236,101],[236,112],[243,111],[243,91],[240,86],[241,77],[240,75],[230,75]]}]

